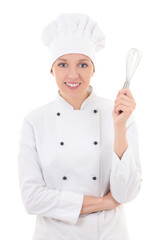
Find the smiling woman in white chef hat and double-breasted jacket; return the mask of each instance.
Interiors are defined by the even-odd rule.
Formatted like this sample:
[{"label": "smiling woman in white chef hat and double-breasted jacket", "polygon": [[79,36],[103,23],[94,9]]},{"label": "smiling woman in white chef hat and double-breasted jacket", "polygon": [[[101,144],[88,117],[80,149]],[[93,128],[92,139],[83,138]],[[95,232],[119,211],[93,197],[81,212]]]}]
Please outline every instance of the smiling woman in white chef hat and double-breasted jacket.
[{"label": "smiling woman in white chef hat and double-breasted jacket", "polygon": [[93,91],[105,36],[87,15],[61,14],[42,39],[58,93],[24,117],[18,156],[34,240],[128,240],[123,204],[141,184],[135,100],[128,88],[115,103]]}]

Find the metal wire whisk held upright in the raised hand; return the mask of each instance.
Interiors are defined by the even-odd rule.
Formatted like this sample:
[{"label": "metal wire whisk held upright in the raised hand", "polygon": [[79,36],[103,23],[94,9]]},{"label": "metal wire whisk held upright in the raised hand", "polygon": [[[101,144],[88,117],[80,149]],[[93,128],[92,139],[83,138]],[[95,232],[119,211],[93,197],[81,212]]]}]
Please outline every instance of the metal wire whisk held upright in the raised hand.
[{"label": "metal wire whisk held upright in the raised hand", "polygon": [[[131,48],[131,50],[128,52],[126,61],[126,80],[124,82],[123,88],[129,88],[131,78],[140,63],[141,57],[141,51],[136,48]],[[122,112],[123,111],[120,110],[119,114]]]}]

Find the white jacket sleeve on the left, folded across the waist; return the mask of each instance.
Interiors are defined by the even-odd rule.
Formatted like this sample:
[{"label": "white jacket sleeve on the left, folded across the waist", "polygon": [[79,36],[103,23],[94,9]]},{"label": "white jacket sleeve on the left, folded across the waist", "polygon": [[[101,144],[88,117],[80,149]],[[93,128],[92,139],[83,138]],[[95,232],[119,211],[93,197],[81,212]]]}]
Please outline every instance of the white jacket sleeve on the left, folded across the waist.
[{"label": "white jacket sleeve on the left, folded across the waist", "polygon": [[83,195],[46,186],[36,149],[34,128],[26,117],[20,131],[18,173],[22,200],[29,214],[77,223]]}]

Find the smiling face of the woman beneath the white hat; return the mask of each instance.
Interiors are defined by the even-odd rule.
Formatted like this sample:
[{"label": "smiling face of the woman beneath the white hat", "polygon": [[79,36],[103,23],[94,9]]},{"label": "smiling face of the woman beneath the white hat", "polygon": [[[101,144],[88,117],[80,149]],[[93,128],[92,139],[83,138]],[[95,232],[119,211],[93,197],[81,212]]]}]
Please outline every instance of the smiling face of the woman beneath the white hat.
[{"label": "smiling face of the woman beneath the white hat", "polygon": [[[87,88],[94,72],[91,59],[77,53],[60,56],[51,68],[51,74],[56,79],[61,96],[73,100],[88,96]],[[66,83],[72,85],[68,86]],[[79,85],[75,86],[77,84]]]}]

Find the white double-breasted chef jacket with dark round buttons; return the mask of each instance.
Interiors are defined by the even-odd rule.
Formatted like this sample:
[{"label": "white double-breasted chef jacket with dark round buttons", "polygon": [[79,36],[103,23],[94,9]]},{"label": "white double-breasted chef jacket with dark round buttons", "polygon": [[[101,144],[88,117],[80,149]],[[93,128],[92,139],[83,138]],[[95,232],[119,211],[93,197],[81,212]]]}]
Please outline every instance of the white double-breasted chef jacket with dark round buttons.
[{"label": "white double-breasted chef jacket with dark round buttons", "polygon": [[[141,164],[133,113],[128,148],[114,152],[114,102],[89,96],[74,110],[56,98],[24,117],[18,153],[19,183],[26,211],[36,215],[34,240],[129,240],[123,204],[140,190]],[[121,203],[113,210],[80,215],[84,195],[109,190]]]}]

